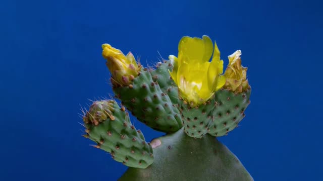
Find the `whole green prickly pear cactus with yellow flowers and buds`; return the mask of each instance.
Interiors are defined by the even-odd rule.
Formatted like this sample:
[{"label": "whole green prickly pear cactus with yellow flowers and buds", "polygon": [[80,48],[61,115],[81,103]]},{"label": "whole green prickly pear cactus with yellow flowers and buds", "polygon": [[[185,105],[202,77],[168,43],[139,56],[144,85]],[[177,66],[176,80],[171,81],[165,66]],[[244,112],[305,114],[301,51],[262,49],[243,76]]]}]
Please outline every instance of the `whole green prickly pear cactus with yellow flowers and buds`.
[{"label": "whole green prickly pear cactus with yellow flowers and buds", "polygon": [[[124,55],[109,44],[102,49],[122,106],[116,100],[93,102],[84,114],[84,137],[129,166],[120,180],[253,180],[217,140],[238,127],[250,104],[240,50],[228,56],[223,73],[219,48],[205,35],[184,36],[178,57],[170,55],[156,69],[142,67],[131,52]],[[166,135],[147,143],[126,109]]]}]

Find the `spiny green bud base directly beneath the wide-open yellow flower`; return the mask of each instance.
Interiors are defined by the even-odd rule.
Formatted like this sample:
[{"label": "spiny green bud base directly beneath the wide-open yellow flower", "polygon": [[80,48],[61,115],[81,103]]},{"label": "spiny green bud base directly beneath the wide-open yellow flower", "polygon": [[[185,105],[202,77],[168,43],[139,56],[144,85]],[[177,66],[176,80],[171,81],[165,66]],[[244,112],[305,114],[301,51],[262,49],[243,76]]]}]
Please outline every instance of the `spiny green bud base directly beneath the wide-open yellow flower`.
[{"label": "spiny green bud base directly beneath the wide-open yellow flower", "polygon": [[214,105],[207,101],[203,105],[191,108],[183,100],[179,101],[179,110],[183,120],[184,132],[194,138],[201,138],[209,130]]}]

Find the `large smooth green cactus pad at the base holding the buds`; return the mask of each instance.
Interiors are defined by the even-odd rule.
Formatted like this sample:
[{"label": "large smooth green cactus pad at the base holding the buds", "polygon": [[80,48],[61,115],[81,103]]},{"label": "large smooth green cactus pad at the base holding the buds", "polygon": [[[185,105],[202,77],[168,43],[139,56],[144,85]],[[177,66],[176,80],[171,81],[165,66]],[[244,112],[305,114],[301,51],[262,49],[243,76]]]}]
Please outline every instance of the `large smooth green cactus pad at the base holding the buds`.
[{"label": "large smooth green cactus pad at the base holding the buds", "polygon": [[187,136],[183,129],[151,141],[155,161],[146,169],[128,168],[119,181],[252,181],[240,160],[206,134]]}]

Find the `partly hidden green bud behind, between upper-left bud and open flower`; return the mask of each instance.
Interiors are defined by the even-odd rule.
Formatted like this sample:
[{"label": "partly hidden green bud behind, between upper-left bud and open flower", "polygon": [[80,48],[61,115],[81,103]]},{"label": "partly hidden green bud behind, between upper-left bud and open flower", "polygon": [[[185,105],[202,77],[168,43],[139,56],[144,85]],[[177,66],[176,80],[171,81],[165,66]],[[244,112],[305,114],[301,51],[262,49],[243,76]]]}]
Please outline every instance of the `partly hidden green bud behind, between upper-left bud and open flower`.
[{"label": "partly hidden green bud behind, between upper-left bud and open flower", "polygon": [[178,88],[173,81],[169,70],[173,69],[170,61],[158,62],[156,69],[151,72],[153,80],[158,82],[158,85],[165,94],[167,94],[173,104],[178,104]]}]

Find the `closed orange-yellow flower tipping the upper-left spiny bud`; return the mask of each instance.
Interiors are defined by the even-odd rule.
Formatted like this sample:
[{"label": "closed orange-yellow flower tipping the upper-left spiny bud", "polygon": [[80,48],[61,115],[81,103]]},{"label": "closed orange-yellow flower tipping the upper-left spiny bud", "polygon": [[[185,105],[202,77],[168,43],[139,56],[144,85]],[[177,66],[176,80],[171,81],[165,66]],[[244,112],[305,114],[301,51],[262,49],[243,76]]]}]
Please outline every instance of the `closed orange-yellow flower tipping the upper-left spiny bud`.
[{"label": "closed orange-yellow flower tipping the upper-left spiny bud", "polygon": [[107,60],[106,66],[109,68],[113,83],[119,85],[129,85],[140,71],[135,57],[131,52],[125,56],[121,50],[112,47],[109,44],[102,45],[102,56]]}]

